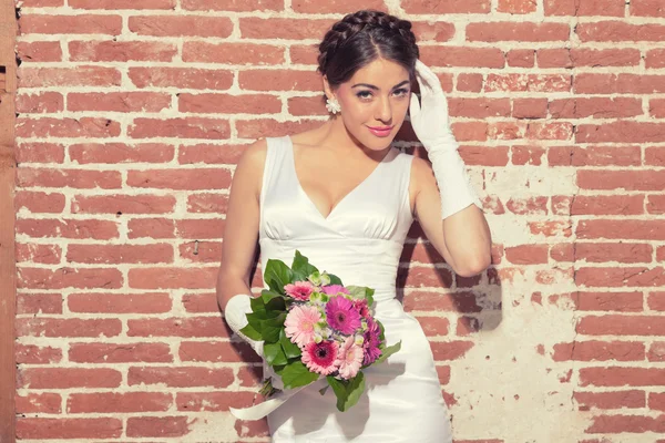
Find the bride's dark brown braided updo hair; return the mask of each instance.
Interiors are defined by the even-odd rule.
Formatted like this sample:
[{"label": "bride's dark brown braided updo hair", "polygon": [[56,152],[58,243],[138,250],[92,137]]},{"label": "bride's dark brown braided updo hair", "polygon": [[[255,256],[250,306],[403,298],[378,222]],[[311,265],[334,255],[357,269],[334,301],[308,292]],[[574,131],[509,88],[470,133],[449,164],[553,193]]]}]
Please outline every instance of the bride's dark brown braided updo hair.
[{"label": "bride's dark brown braided updo hair", "polygon": [[317,71],[335,89],[360,68],[381,58],[401,64],[413,80],[418,56],[410,21],[362,10],[345,16],[326,33],[319,44]]}]

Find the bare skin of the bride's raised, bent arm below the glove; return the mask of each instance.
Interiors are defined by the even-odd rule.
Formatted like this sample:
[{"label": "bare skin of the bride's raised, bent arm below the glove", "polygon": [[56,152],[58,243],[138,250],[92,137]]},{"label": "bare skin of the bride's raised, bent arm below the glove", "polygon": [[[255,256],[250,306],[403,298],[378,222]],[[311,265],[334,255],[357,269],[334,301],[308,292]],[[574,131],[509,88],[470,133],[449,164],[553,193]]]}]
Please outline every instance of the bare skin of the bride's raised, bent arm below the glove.
[{"label": "bare skin of the bride's raised, bent arm below the glove", "polygon": [[491,262],[492,239],[482,210],[470,205],[441,219],[441,197],[430,164],[415,157],[411,166],[416,187],[413,213],[428,240],[454,272],[471,277]]}]

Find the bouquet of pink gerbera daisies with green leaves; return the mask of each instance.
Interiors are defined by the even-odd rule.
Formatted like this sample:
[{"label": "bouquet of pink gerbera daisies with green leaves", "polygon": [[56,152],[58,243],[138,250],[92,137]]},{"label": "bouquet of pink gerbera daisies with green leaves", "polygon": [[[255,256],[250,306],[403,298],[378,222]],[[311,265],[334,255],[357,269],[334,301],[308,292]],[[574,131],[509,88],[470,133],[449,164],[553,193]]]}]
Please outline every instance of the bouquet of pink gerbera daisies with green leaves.
[{"label": "bouquet of pink gerbera daisies with green leaves", "polygon": [[[337,396],[337,409],[347,411],[365,391],[362,370],[399,351],[401,341],[386,344],[383,326],[374,318],[374,289],[344,286],[332,274],[319,270],[296,250],[289,268],[269,259],[260,297],[252,299],[248,338],[264,341],[264,359],[284,389],[305,387],[326,378]],[[270,378],[260,393],[279,390]]]}]

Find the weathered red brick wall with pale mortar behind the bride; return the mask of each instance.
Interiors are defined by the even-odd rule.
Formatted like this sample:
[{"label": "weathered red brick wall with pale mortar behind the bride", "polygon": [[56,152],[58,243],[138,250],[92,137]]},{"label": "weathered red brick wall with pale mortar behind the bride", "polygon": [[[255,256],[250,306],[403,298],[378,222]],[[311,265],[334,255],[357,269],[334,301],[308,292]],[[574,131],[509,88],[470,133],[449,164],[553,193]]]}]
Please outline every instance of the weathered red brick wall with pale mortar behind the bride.
[{"label": "weathered red brick wall with pale mortar behind the bride", "polygon": [[[214,296],[228,186],[326,119],[315,44],[358,4],[20,2],[19,439],[268,440],[227,412],[258,375]],[[477,278],[417,226],[402,257],[457,442],[665,442],[665,3],[364,7],[413,22],[495,243]]]}]

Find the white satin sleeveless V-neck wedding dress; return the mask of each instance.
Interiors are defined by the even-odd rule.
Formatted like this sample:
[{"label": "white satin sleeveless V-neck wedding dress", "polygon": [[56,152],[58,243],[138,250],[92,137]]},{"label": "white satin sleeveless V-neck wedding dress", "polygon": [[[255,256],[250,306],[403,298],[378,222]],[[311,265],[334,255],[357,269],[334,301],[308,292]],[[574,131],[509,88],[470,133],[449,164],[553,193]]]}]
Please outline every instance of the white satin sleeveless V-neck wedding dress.
[{"label": "white satin sleeveless V-neck wedding dress", "polygon": [[[365,370],[366,390],[347,412],[313,383],[268,414],[274,443],[451,443],[451,424],[429,342],[396,297],[403,241],[411,226],[412,156],[391,147],[375,171],[324,217],[301,188],[289,136],[267,138],[260,193],[263,269],[270,258],[291,265],[295,250],[345,285],[375,292],[375,316],[388,344],[401,350]],[[265,284],[265,282],[264,282]],[[267,286],[265,286],[267,287]]]}]

